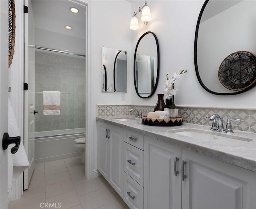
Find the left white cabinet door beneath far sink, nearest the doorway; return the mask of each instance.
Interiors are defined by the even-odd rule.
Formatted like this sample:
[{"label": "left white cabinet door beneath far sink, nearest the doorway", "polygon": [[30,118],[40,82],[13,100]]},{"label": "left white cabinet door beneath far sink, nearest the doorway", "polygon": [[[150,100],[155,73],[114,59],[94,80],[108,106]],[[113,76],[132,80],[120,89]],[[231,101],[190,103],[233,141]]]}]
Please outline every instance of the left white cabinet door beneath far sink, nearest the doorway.
[{"label": "left white cabinet door beneath far sink, nearest the doorway", "polygon": [[108,177],[108,124],[98,124],[98,171],[107,179]]}]

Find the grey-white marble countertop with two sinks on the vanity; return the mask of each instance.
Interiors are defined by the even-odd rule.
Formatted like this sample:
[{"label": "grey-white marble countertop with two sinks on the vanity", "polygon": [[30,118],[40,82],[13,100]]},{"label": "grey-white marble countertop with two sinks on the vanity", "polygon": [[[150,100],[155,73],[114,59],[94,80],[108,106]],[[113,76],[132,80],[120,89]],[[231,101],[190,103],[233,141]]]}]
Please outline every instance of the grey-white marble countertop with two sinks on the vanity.
[{"label": "grey-white marble countertop with two sinks on the vanity", "polygon": [[[129,118],[129,116],[116,117],[96,117],[96,120],[106,122],[127,130],[131,130],[144,136],[155,138],[156,140],[165,141],[172,145],[179,146],[186,150],[209,156],[211,158],[233,164],[242,168],[256,172],[256,134],[250,132],[242,132],[234,130],[234,133],[227,134],[216,131],[211,131],[209,126],[202,126],[196,124],[183,123],[181,126],[147,126],[142,124],[141,119],[134,119],[128,121],[116,120],[116,118]],[[239,145],[232,145],[231,143],[220,144],[214,143],[212,140],[191,138],[175,133],[182,129],[198,129],[202,132],[212,133],[218,136],[228,136],[234,139],[248,138],[251,141],[244,141]]]}]

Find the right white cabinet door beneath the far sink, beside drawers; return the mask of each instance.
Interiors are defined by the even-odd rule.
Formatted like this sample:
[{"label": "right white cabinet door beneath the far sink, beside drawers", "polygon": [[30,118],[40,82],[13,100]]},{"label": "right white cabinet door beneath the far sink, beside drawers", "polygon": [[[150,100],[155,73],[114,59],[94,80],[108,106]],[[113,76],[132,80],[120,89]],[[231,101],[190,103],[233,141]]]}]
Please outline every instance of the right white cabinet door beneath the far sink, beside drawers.
[{"label": "right white cabinet door beneath the far sink, beside drawers", "polygon": [[110,125],[110,185],[122,197],[124,171],[124,129]]}]

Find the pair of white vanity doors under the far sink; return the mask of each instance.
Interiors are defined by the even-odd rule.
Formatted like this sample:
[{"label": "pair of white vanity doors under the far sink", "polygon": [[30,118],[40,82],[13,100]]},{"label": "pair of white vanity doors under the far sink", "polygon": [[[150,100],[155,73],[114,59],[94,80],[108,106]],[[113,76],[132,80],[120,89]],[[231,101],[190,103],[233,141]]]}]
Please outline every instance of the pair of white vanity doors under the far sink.
[{"label": "pair of white vanity doors under the far sink", "polygon": [[122,197],[124,171],[124,129],[98,123],[98,171]]}]

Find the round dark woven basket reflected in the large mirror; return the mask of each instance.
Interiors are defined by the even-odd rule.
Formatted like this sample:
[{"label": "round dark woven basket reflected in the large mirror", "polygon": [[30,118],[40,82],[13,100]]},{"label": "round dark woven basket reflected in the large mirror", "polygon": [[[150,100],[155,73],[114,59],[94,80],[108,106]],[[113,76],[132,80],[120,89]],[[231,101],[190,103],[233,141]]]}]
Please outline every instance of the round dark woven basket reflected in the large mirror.
[{"label": "round dark woven basket reflected in the large mirror", "polygon": [[256,55],[250,51],[236,51],[220,64],[220,83],[227,89],[240,91],[256,82]]}]

